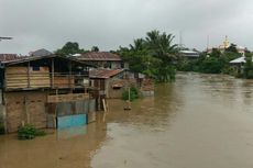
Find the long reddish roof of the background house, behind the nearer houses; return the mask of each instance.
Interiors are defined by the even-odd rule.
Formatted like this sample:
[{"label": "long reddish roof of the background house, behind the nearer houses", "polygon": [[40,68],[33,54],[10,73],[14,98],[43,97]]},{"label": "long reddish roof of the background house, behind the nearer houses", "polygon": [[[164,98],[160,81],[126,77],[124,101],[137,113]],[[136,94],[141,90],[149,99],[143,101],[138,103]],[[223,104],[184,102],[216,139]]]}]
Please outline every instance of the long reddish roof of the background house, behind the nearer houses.
[{"label": "long reddish roof of the background house, behind the nearer houses", "polygon": [[121,58],[117,54],[112,54],[109,52],[89,52],[84,53],[77,57],[79,60],[118,60],[120,61]]}]

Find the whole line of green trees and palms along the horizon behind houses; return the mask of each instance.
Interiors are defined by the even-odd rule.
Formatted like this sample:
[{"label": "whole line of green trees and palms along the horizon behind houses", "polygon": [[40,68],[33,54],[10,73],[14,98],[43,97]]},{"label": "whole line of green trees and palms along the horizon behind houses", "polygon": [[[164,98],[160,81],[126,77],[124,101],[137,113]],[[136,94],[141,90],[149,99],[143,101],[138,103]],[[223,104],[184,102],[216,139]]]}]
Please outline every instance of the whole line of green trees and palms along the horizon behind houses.
[{"label": "whole line of green trees and palms along the horizon behind houses", "polygon": [[[174,35],[157,30],[150,31],[145,37],[135,38],[127,47],[120,46],[111,53],[119,54],[130,65],[130,70],[141,72],[157,82],[168,82],[175,79],[176,70],[197,71],[204,74],[229,74],[244,78],[253,78],[252,53],[246,51],[246,63],[242,75],[238,75],[229,64],[242,55],[238,53],[237,45],[231,44],[224,52],[213,48],[211,53],[201,52],[197,59],[183,57],[178,45],[173,43]],[[78,43],[67,42],[55,53],[58,55],[73,55],[86,52],[99,52],[98,46],[90,51],[79,48]]]}]

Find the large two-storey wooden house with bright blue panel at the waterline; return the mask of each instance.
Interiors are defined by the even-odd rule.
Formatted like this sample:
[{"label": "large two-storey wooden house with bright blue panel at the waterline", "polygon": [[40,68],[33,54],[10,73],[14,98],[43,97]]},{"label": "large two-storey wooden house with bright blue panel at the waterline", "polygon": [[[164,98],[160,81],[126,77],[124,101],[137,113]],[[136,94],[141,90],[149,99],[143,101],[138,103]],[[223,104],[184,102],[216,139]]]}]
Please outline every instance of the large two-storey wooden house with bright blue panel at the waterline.
[{"label": "large two-storey wooden house with bright blue panel at the waterline", "polygon": [[37,128],[87,123],[95,111],[88,65],[56,55],[0,55],[0,115],[7,133],[24,123]]}]

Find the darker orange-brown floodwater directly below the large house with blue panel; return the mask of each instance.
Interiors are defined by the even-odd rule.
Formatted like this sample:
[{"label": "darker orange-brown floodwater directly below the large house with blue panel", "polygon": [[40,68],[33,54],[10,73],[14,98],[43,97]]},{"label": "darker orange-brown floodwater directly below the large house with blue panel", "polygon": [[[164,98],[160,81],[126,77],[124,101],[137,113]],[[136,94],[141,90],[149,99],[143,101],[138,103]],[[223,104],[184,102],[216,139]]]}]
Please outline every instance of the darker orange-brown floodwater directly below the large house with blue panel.
[{"label": "darker orange-brown floodwater directly below the large house with blue panel", "polygon": [[32,141],[16,135],[0,136],[0,168],[88,168],[101,142],[107,124],[98,116],[89,126],[52,132]]}]

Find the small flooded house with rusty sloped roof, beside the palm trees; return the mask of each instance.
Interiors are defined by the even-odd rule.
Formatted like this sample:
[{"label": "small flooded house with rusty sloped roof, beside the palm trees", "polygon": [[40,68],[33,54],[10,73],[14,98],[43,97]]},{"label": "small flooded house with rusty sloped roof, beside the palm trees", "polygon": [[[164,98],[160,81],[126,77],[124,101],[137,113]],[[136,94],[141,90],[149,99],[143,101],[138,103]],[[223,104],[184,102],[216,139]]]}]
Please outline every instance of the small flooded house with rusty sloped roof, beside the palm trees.
[{"label": "small flooded house with rusty sloped roof, beside the palm trees", "polygon": [[121,99],[130,87],[138,88],[144,97],[154,96],[154,81],[144,75],[127,69],[94,69],[89,71],[90,87],[99,90],[97,109],[102,109],[102,99]]}]

